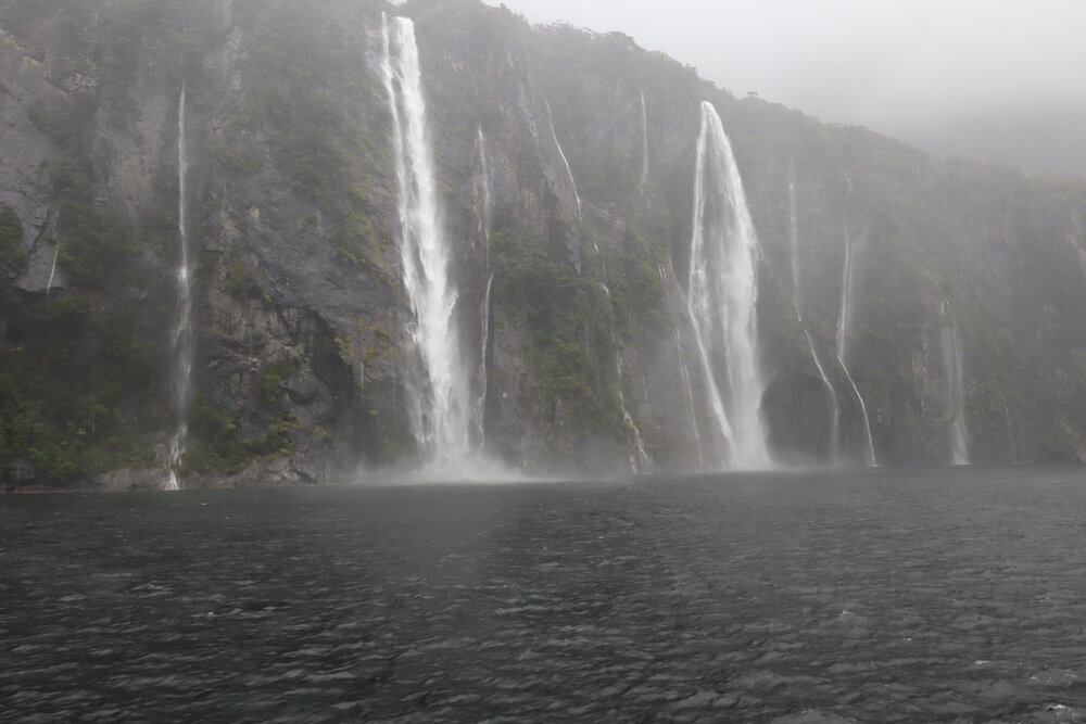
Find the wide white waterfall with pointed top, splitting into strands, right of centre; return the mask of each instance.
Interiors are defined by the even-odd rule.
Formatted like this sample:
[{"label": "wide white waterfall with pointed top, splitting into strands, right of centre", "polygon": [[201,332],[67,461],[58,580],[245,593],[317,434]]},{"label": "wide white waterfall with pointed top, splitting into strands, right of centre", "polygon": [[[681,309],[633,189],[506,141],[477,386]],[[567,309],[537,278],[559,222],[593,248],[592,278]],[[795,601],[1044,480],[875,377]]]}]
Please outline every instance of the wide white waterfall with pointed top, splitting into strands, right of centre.
[{"label": "wide white waterfall with pointed top, splitting into strands, right of centre", "polygon": [[686,308],[719,433],[734,468],[772,465],[761,415],[758,237],[743,180],[711,103],[702,102]]}]

